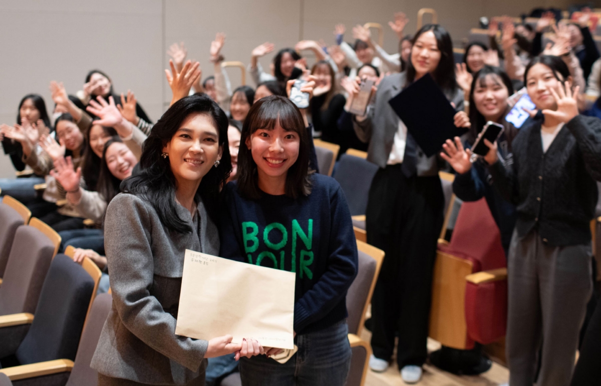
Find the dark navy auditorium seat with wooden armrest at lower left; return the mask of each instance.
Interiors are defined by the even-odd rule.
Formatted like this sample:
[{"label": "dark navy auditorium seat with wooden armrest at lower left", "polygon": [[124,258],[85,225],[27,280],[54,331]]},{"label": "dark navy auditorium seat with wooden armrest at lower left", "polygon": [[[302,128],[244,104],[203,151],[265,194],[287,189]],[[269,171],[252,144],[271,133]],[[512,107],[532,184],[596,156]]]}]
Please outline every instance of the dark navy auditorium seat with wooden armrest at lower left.
[{"label": "dark navy auditorium seat with wooden armrest at lower left", "polygon": [[[35,314],[20,314],[19,320],[15,315],[0,317],[2,372],[17,381],[11,376],[12,367],[51,360],[75,360],[97,280],[99,277],[95,281],[69,256],[56,255],[44,280]],[[9,319],[10,325],[5,325],[4,321]],[[28,331],[19,342],[11,331],[23,325],[28,325]],[[68,376],[67,373],[50,378],[66,381]],[[39,383],[47,384],[47,381]]]}]

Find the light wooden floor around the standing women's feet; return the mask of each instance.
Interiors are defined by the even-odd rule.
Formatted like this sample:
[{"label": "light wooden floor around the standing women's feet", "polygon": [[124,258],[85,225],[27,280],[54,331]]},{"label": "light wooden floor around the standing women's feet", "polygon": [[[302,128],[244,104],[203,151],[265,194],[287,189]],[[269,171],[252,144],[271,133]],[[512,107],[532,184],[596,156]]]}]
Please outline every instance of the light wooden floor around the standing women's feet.
[{"label": "light wooden floor around the standing women's feet", "polygon": [[[371,333],[363,329],[362,339],[370,342]],[[440,343],[428,339],[428,351],[435,351],[441,347]],[[367,370],[367,379],[365,386],[398,386],[406,385],[401,379],[400,372],[396,364],[391,365],[385,373],[376,373]],[[486,373],[478,376],[457,376],[444,372],[435,366],[426,364],[424,366],[424,376],[417,385],[422,386],[496,386],[507,382],[509,379],[509,370],[498,363],[493,362],[492,368]]]}]

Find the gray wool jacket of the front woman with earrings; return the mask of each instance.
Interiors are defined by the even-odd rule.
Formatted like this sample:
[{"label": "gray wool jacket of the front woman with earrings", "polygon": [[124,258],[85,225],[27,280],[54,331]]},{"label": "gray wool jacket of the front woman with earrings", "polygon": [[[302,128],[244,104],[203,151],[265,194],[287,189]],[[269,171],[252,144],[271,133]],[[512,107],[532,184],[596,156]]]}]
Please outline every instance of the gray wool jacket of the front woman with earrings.
[{"label": "gray wool jacket of the front woman with earrings", "polygon": [[[177,206],[192,233],[168,232],[153,206],[118,194],[105,218],[112,309],[91,367],[114,378],[183,385],[204,376],[206,340],[175,335],[186,248],[217,255],[219,233],[197,197],[194,219]],[[174,213],[175,215],[175,213]]]}]

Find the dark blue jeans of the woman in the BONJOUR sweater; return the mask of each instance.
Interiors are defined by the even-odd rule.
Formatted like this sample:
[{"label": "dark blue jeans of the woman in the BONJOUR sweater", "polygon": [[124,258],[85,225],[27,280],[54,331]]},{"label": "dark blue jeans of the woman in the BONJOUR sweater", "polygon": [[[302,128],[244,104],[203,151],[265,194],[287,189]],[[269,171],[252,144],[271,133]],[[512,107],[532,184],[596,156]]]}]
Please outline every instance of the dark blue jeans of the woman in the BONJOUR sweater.
[{"label": "dark blue jeans of the woman in the BONJOUR sweater", "polygon": [[346,320],[296,336],[299,350],[280,364],[265,355],[240,360],[243,386],[344,386],[350,369]]}]

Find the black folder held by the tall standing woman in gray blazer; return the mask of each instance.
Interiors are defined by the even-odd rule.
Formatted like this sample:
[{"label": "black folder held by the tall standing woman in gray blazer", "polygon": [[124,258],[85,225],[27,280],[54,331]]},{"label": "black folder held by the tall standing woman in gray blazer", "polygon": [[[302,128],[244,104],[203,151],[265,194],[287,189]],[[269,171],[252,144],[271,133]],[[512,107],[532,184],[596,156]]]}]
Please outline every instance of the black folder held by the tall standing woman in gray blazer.
[{"label": "black folder held by the tall standing woman in gray blazer", "polygon": [[388,103],[429,157],[440,152],[447,139],[468,131],[455,126],[456,111],[430,74],[413,82]]}]

